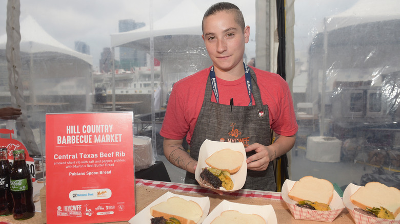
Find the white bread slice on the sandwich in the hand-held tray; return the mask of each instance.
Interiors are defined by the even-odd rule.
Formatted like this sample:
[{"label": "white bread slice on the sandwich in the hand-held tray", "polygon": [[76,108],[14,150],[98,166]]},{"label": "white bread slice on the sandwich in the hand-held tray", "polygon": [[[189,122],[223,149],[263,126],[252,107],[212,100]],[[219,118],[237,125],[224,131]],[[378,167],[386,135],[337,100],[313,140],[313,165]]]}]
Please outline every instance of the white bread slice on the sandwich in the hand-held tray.
[{"label": "white bread slice on the sandwich in the hand-held tray", "polygon": [[242,167],[243,158],[242,152],[226,148],[210,155],[206,159],[206,164],[212,168],[235,173]]}]

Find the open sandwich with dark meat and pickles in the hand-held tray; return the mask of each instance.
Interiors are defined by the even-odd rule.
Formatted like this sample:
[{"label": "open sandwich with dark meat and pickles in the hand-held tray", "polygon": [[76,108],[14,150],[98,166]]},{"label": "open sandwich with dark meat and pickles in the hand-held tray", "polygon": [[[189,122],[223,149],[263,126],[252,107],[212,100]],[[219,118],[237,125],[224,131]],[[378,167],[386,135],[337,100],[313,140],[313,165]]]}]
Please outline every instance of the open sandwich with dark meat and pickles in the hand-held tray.
[{"label": "open sandwich with dark meat and pickles in the hand-held tray", "polygon": [[200,182],[215,189],[223,187],[226,190],[232,190],[231,174],[236,173],[242,167],[243,160],[242,152],[232,149],[214,152],[205,161],[210,167],[202,168]]}]

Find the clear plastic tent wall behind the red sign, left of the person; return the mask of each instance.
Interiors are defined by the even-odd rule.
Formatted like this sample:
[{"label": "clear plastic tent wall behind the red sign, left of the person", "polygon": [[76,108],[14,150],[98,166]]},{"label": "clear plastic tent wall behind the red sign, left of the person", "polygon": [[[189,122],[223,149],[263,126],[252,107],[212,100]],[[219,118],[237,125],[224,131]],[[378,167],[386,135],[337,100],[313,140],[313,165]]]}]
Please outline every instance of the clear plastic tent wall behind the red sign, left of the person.
[{"label": "clear plastic tent wall behind the red sign, left of the person", "polygon": [[[23,108],[18,138],[45,155],[46,113],[132,110],[134,135],[152,138],[154,154],[163,156],[158,132],[173,83],[211,65],[201,20],[216,2],[3,1],[1,102]],[[242,8],[251,9],[246,20],[254,24],[254,2]],[[7,19],[18,28],[14,59],[7,58]],[[251,46],[247,55],[254,57],[254,38]],[[9,61],[20,63],[17,73]]]}]

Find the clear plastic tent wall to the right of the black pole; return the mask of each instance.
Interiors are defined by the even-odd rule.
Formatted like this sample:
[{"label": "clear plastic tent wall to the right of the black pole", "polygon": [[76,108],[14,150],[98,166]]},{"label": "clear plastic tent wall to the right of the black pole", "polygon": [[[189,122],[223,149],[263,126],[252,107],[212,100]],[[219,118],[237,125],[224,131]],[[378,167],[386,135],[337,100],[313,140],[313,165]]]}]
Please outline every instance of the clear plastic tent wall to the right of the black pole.
[{"label": "clear plastic tent wall to the right of the black pole", "polygon": [[325,174],[336,175],[339,186],[379,181],[400,188],[398,6],[295,3],[295,152],[309,165],[330,162]]}]

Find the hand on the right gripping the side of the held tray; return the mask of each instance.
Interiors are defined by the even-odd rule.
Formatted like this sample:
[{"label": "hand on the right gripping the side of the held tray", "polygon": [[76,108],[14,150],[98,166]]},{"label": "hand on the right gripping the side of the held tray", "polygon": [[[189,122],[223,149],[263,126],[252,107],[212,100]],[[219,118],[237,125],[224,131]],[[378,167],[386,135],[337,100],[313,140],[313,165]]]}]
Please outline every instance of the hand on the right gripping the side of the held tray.
[{"label": "hand on the right gripping the side of the held tray", "polygon": [[271,150],[268,148],[268,146],[259,143],[254,143],[247,146],[245,150],[246,152],[253,150],[255,151],[255,154],[249,156],[249,158],[247,158],[246,160],[247,169],[256,171],[262,171],[267,169],[268,164],[271,161],[271,155],[272,155]]}]

